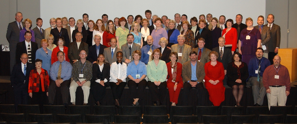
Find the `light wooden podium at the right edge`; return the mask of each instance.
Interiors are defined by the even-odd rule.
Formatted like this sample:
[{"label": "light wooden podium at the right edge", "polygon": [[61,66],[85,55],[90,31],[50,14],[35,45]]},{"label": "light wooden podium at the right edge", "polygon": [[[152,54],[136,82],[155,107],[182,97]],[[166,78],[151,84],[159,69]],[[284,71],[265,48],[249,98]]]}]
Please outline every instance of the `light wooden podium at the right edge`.
[{"label": "light wooden podium at the right edge", "polygon": [[281,64],[289,70],[291,82],[297,81],[297,48],[279,49],[278,55],[281,58]]}]

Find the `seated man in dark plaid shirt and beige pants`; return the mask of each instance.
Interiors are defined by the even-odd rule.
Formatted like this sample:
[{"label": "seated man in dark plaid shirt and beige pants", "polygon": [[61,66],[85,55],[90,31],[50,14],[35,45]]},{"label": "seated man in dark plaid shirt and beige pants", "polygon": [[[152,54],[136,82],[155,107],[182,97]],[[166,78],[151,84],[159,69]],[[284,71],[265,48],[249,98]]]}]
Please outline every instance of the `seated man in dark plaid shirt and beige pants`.
[{"label": "seated man in dark plaid shirt and beige pants", "polygon": [[90,86],[92,79],[92,63],[86,59],[88,56],[85,50],[81,50],[79,53],[80,60],[73,64],[72,69],[72,82],[70,83],[70,102],[75,105],[76,89],[81,86],[83,89],[83,105],[88,104],[90,95]]}]

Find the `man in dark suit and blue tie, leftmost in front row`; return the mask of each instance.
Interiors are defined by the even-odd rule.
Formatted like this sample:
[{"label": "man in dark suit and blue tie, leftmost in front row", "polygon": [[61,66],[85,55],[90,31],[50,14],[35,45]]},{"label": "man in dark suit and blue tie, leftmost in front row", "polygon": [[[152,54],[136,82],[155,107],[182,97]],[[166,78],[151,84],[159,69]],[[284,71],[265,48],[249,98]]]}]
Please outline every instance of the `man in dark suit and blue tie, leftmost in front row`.
[{"label": "man in dark suit and blue tie, leftmost in front row", "polygon": [[28,104],[28,85],[29,74],[33,69],[33,64],[28,63],[28,55],[26,53],[21,54],[21,62],[16,63],[13,66],[10,81],[15,94],[15,110],[18,110],[18,104]]}]

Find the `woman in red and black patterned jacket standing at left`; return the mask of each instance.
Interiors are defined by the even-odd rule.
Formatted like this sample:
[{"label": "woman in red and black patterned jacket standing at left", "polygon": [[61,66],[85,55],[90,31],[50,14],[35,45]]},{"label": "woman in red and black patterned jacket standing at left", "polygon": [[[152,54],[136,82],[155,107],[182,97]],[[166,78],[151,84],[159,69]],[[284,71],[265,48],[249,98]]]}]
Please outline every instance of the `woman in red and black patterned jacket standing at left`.
[{"label": "woman in red and black patterned jacket standing at left", "polygon": [[36,59],[36,68],[30,71],[29,75],[29,96],[32,98],[32,105],[39,105],[40,111],[43,111],[43,105],[46,105],[48,96],[48,86],[50,80],[48,71],[42,69],[42,60]]}]

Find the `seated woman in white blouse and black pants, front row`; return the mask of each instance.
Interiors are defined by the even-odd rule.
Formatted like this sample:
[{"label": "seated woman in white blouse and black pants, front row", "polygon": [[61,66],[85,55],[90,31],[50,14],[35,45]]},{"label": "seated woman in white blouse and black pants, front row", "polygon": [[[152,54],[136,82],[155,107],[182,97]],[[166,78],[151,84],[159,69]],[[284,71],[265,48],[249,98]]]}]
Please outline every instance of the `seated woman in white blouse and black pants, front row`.
[{"label": "seated woman in white blouse and black pants, front row", "polygon": [[116,53],[116,62],[110,66],[110,88],[112,90],[113,99],[115,100],[116,108],[120,105],[120,98],[127,84],[127,64],[122,62],[123,53]]}]

